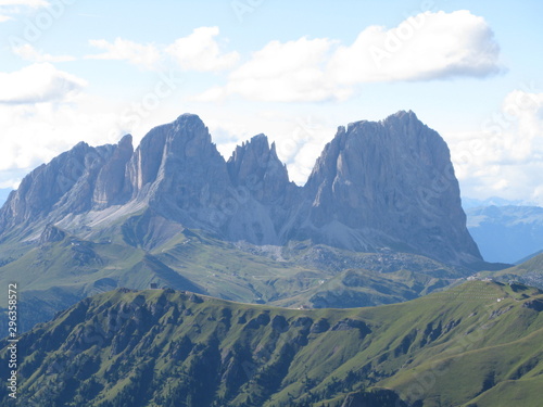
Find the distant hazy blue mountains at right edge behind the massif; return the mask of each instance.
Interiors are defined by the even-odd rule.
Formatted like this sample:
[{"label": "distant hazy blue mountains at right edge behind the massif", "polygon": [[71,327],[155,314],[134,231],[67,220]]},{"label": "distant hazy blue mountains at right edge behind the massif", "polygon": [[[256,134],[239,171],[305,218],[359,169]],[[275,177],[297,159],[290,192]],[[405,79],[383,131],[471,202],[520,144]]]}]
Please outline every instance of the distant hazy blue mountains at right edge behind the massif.
[{"label": "distant hazy blue mountains at right edge behind the massif", "polygon": [[468,230],[488,262],[521,263],[543,249],[543,207],[491,205],[466,214]]}]

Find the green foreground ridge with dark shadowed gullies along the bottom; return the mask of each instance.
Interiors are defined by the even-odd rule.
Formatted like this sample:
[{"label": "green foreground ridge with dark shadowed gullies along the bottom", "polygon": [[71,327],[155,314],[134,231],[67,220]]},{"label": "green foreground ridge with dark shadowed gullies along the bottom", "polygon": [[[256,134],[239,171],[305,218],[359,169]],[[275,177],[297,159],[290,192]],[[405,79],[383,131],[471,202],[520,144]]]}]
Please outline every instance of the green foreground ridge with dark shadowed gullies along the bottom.
[{"label": "green foreground ridge with dark shadowed gullies along the bottom", "polygon": [[[539,406],[543,292],[470,281],[287,309],[174,290],[86,298],[17,343],[14,406]],[[9,342],[0,342],[8,365]]]}]

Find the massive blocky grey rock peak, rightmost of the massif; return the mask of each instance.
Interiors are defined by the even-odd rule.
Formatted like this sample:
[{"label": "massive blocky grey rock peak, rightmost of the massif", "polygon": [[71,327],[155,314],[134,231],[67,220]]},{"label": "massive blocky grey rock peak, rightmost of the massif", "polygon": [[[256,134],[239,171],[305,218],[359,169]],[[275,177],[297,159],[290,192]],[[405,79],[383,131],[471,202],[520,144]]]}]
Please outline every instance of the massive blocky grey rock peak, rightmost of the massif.
[{"label": "massive blocky grey rock peak, rightmost of the massif", "polygon": [[299,238],[364,251],[480,258],[466,229],[449,148],[413,112],[340,127],[305,186]]}]

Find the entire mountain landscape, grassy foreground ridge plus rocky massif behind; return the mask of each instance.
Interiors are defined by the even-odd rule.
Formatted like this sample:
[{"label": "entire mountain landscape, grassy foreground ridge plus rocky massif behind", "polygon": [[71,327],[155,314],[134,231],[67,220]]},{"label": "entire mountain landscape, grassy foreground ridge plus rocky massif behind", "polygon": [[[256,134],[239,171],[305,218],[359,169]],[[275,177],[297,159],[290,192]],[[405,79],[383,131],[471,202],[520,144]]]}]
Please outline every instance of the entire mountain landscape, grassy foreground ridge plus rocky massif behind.
[{"label": "entire mountain landscape, grassy foreground ridge plus rocky massif behind", "polygon": [[542,262],[483,260],[413,112],[339,127],[303,187],[266,136],[225,160],[185,114],[75,145],[0,208],[10,403],[539,406]]}]

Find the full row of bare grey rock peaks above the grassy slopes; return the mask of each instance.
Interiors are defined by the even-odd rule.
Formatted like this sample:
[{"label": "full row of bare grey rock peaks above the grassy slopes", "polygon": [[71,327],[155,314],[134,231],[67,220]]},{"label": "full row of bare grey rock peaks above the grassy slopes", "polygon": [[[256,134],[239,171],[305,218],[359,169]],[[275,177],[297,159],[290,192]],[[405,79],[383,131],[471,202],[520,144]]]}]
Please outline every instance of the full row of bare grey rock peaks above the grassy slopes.
[{"label": "full row of bare grey rock peaks above the grassy slopes", "polygon": [[304,187],[289,181],[266,136],[225,162],[191,114],[152,129],[136,150],[130,136],[116,145],[79,143],[25,177],[0,209],[0,238],[39,237],[48,224],[91,236],[142,209],[148,246],[185,227],[253,244],[311,240],[480,260],[449,149],[413,112],[340,127]]}]

